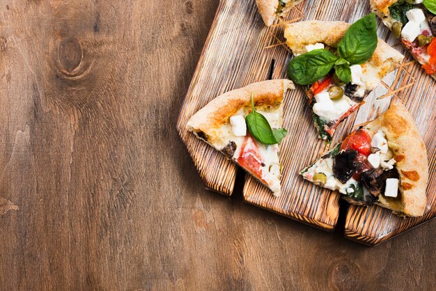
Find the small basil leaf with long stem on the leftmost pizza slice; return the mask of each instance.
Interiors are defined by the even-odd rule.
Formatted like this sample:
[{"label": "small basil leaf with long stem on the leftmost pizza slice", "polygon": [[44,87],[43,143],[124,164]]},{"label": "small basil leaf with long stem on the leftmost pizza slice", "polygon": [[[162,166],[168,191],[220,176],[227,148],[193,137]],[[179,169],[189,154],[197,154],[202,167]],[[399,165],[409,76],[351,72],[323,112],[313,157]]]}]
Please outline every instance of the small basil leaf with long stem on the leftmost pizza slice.
[{"label": "small basil leaf with long stem on the leftmost pizza slice", "polygon": [[265,145],[273,145],[277,143],[277,139],[272,132],[271,125],[268,123],[267,118],[262,114],[256,112],[254,108],[254,93],[251,93],[251,113],[245,116],[245,122],[247,123],[250,134]]}]

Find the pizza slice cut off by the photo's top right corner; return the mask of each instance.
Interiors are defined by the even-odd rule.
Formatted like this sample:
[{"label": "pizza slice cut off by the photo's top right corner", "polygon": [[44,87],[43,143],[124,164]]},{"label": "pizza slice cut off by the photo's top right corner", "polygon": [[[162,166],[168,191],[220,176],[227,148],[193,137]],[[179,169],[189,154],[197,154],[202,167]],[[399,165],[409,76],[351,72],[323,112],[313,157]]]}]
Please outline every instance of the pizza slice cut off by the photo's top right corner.
[{"label": "pizza slice cut off by the photo's top right corner", "polygon": [[371,0],[371,9],[436,79],[436,1]]}]

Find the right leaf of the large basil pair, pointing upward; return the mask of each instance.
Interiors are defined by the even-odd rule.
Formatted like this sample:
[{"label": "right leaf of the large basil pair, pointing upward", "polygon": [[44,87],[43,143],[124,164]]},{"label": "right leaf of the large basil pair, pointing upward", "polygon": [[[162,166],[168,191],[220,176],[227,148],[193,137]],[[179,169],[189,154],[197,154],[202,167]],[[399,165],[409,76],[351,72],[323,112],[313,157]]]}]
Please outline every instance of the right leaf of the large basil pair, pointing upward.
[{"label": "right leaf of the large basil pair, pointing upward", "polygon": [[371,13],[351,24],[338,45],[338,53],[350,63],[368,61],[377,47],[377,22]]}]

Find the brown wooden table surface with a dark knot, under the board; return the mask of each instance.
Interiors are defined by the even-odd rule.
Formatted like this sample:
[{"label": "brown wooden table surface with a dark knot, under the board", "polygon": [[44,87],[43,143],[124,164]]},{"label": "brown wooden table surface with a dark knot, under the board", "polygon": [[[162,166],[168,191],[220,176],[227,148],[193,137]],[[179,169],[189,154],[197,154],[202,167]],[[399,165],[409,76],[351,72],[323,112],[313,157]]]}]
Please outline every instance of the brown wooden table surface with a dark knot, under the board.
[{"label": "brown wooden table surface with a dark knot, under the board", "polygon": [[369,248],[203,189],[175,125],[217,5],[0,1],[0,290],[435,290],[435,221]]}]

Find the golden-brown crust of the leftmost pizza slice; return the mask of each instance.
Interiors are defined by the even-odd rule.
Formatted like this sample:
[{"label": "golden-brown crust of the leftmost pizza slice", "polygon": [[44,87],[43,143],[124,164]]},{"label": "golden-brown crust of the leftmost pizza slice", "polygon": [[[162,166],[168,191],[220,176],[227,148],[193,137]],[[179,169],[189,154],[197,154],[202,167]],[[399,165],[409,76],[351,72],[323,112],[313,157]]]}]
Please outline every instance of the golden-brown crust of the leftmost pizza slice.
[{"label": "golden-brown crust of the leftmost pizza slice", "polygon": [[256,108],[276,109],[283,101],[283,95],[288,89],[294,89],[294,84],[288,79],[275,79],[249,84],[243,88],[219,95],[203,109],[195,113],[187,122],[187,129],[198,136],[205,136],[217,149],[222,148],[220,130],[228,119],[242,107],[251,107],[251,92],[254,92]]}]

